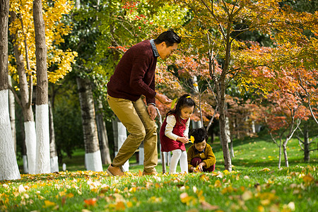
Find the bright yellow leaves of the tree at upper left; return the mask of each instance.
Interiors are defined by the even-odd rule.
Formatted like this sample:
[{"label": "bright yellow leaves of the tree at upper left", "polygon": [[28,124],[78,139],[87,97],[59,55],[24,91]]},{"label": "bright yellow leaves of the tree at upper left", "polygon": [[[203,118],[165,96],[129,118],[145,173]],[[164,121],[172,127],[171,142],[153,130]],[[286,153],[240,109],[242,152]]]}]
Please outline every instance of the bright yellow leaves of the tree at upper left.
[{"label": "bright yellow leaves of the tree at upper left", "polygon": [[[63,36],[68,35],[71,31],[70,25],[62,23],[64,15],[68,14],[73,8],[73,1],[54,0],[43,1],[43,18],[45,20],[45,42],[47,47],[47,67],[48,79],[51,83],[56,83],[59,79],[64,78],[66,73],[71,71],[71,64],[75,61],[76,52],[66,50],[65,52],[58,48],[64,42]],[[11,23],[9,31],[16,37],[16,45],[19,46],[20,54],[25,57],[28,53],[30,70],[26,64],[26,58],[23,59],[25,71],[28,74],[35,74],[35,32],[33,23],[33,1],[30,0],[13,0],[10,1]],[[25,45],[27,48],[25,48]],[[27,49],[28,52],[25,52]],[[14,64],[11,56],[11,63]],[[16,72],[16,67],[9,64],[8,69],[11,73]],[[33,83],[36,83],[36,77],[33,77]]]}]

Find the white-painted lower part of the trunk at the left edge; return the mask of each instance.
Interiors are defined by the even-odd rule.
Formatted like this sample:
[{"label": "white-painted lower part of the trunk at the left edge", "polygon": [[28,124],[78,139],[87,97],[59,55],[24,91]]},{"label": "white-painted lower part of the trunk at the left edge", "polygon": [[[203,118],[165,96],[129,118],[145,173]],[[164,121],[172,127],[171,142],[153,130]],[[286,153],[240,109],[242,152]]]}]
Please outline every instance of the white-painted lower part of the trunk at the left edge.
[{"label": "white-painted lower part of the trunk at the left edge", "polygon": [[8,90],[0,90],[0,180],[20,179],[8,114]]}]

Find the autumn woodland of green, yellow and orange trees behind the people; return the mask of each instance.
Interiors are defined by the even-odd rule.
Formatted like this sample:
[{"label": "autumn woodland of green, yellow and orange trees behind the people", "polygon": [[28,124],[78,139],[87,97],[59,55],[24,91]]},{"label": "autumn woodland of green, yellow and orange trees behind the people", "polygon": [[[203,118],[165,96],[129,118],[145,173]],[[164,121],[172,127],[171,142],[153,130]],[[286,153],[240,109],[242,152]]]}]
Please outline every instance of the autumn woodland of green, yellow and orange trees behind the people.
[{"label": "autumn woodland of green, yellow and orange trees behind the people", "polygon": [[[32,131],[37,85],[33,1],[11,1],[8,73],[15,95],[11,112],[18,158],[35,164]],[[106,84],[121,55],[144,39],[173,28],[182,44],[159,61],[157,91],[190,93],[199,105],[192,117],[220,137],[231,171],[235,138],[265,131],[288,166],[295,137],[310,160],[317,150],[316,1],[42,1],[47,42],[50,154],[59,164],[84,148],[109,164],[117,148]],[[35,90],[35,89],[34,89]],[[13,98],[11,97],[11,100]],[[94,104],[93,104],[94,102]],[[157,102],[161,117],[170,107]],[[11,107],[12,108],[12,107]],[[49,111],[51,111],[49,110]],[[14,110],[11,110],[14,111]],[[12,116],[16,114],[16,118]],[[200,124],[201,123],[201,124]],[[158,124],[160,120],[158,119]],[[93,127],[92,127],[93,126]],[[32,140],[32,141],[31,141]],[[275,144],[274,144],[275,145]],[[51,162],[52,163],[52,162]]]}]

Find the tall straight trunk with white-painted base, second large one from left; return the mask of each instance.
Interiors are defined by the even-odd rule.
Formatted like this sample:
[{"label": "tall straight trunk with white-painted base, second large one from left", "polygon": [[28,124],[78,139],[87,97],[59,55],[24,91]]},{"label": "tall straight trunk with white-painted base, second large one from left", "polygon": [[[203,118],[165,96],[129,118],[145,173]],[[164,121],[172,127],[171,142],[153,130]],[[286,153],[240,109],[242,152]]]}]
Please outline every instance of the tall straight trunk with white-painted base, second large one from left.
[{"label": "tall straight trunk with white-painted base, second large one from left", "polygon": [[37,155],[35,172],[51,172],[49,160],[49,105],[47,80],[47,46],[45,43],[45,22],[42,15],[42,0],[33,1],[35,28],[35,56],[37,67],[37,98],[35,105]]}]

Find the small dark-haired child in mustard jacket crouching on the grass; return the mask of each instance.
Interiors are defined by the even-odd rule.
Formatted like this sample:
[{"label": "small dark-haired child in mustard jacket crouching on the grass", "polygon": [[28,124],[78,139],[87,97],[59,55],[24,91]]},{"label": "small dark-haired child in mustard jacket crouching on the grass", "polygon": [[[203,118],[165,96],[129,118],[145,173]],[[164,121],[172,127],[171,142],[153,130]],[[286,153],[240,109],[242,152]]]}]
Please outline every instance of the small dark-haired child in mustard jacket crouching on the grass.
[{"label": "small dark-haired child in mustard jacket crouching on the grass", "polygon": [[[193,137],[193,138],[192,138]],[[193,145],[188,149],[189,172],[213,172],[216,168],[216,156],[208,141],[208,133],[204,128],[193,129],[190,133]]]}]

